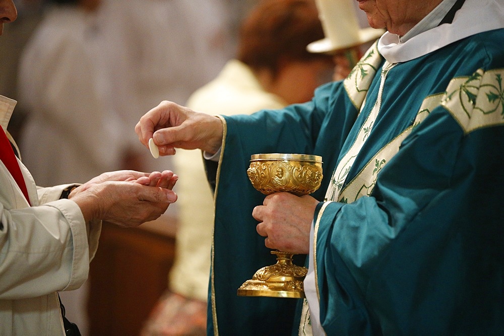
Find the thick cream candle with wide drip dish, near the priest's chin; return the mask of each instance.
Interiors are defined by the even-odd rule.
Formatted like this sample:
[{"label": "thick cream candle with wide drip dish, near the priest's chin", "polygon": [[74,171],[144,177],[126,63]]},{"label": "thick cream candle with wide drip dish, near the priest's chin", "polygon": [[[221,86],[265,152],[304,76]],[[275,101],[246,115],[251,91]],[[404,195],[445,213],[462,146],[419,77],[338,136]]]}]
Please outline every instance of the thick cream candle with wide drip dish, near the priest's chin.
[{"label": "thick cream candle with wide drip dish, near the priest's chin", "polygon": [[352,0],[315,0],[324,29],[324,39],[306,46],[309,52],[331,53],[376,40],[383,29],[360,28]]}]

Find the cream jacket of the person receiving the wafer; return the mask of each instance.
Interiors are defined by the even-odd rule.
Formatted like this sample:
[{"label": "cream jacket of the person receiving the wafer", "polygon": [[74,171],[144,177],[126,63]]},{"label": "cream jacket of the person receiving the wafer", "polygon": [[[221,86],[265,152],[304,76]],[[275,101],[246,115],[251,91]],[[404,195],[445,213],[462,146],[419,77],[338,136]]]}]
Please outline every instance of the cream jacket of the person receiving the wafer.
[{"label": "cream jacket of the person receiving the wafer", "polygon": [[[15,103],[0,96],[4,130]],[[0,162],[0,334],[62,335],[56,292],[86,280],[101,222],[87,225],[75,202],[59,200],[69,185],[38,188],[18,162],[31,206]]]}]

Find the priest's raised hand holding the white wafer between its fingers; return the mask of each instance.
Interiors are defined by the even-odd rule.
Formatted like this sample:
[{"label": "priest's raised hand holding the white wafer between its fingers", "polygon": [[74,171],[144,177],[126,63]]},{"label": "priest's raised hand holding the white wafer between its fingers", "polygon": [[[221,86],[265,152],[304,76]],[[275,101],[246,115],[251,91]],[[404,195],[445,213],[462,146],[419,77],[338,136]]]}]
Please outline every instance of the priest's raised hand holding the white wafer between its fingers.
[{"label": "priest's raised hand holding the white wafer between its fingers", "polygon": [[221,147],[223,126],[218,117],[163,101],[140,118],[135,132],[147,148],[152,138],[160,155],[173,155],[175,148],[213,154]]}]

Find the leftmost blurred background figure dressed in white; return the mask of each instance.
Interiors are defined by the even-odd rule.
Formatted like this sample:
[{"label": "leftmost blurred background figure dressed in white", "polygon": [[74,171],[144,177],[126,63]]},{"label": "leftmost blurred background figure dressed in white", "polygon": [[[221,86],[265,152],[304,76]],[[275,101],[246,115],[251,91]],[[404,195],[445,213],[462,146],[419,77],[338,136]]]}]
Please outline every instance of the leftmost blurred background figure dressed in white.
[{"label": "leftmost blurred background figure dressed in white", "polygon": [[123,152],[118,118],[98,91],[100,0],[50,0],[23,51],[20,101],[30,111],[21,150],[43,186],[84,183],[117,169]]}]

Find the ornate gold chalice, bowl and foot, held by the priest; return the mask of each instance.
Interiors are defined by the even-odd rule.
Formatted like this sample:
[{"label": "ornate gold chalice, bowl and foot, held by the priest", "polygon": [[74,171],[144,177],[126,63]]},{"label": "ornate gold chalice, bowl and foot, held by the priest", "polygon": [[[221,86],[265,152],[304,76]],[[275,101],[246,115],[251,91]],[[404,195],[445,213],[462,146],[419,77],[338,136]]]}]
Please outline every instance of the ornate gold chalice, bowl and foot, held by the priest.
[{"label": "ornate gold chalice, bowl and foot, held by the priest", "polygon": [[[255,154],[250,156],[248,179],[265,195],[286,191],[301,196],[319,189],[322,157],[306,154]],[[304,298],[303,280],[308,270],[292,264],[293,253],[271,251],[275,265],[258,270],[238,288],[238,296]]]}]

